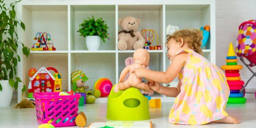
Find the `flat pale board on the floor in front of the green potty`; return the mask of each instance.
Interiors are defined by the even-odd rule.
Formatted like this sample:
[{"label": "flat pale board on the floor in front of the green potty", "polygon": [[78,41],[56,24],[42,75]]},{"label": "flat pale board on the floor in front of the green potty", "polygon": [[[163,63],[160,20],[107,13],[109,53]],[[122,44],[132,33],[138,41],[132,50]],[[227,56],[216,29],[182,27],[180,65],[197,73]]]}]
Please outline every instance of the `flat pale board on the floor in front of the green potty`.
[{"label": "flat pale board on the floor in front of the green potty", "polygon": [[88,128],[153,128],[152,121],[94,122]]}]

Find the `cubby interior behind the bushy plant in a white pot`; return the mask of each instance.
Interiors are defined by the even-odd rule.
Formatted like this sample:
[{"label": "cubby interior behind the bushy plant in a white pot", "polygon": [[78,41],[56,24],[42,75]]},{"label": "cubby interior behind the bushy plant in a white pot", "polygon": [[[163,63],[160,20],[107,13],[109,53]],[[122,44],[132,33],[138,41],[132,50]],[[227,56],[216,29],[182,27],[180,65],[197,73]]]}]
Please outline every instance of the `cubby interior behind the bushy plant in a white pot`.
[{"label": "cubby interior behind the bushy plant in a white pot", "polygon": [[84,19],[94,16],[95,19],[102,18],[108,24],[109,39],[106,43],[101,41],[99,50],[116,50],[116,15],[115,5],[71,5],[71,50],[88,50],[86,40],[79,35],[79,25]]}]

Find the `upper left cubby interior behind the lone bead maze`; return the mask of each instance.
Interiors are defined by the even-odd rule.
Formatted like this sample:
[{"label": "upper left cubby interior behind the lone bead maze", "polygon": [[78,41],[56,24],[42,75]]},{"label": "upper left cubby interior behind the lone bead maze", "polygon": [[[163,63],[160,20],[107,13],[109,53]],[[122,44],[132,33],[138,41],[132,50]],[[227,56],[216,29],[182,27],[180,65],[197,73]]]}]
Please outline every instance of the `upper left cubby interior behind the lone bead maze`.
[{"label": "upper left cubby interior behind the lone bead maze", "polygon": [[26,25],[23,43],[32,48],[38,32],[50,34],[56,50],[68,50],[68,6],[67,5],[24,5],[22,21]]}]

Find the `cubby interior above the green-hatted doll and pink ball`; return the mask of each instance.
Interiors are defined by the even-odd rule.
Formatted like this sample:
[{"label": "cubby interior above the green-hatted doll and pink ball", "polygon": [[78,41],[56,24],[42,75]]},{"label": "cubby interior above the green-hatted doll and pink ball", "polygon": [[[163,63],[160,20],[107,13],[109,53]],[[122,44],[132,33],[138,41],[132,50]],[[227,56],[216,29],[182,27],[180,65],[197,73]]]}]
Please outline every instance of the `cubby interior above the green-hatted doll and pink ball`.
[{"label": "cubby interior above the green-hatted doll and pink ball", "polygon": [[[99,78],[108,78],[112,84],[116,83],[115,53],[71,53],[71,73],[83,71],[89,80],[84,85],[94,88]],[[71,84],[72,86],[72,84]]]}]

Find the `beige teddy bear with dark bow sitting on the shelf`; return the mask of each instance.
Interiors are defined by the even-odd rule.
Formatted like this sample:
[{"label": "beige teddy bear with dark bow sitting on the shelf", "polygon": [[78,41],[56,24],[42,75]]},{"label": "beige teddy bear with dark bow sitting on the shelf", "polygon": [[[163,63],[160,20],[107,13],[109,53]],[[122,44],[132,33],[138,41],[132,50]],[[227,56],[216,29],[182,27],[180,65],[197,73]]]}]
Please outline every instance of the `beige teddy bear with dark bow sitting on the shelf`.
[{"label": "beige teddy bear with dark bow sitting on the shelf", "polygon": [[118,19],[118,25],[120,25],[122,31],[118,33],[119,50],[136,50],[143,48],[145,39],[140,31],[137,31],[140,25],[138,18],[127,16],[125,18]]}]

